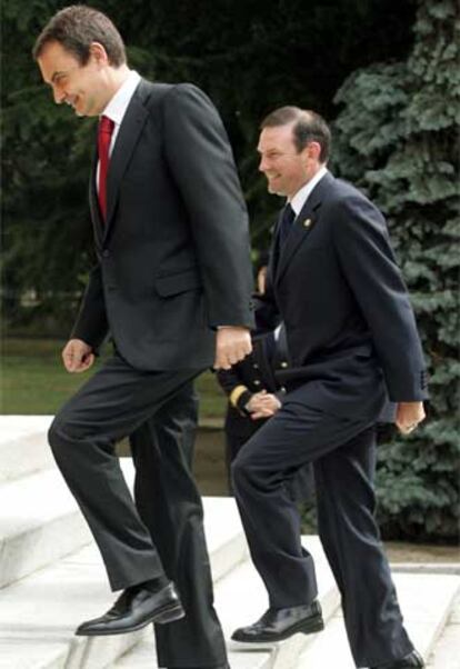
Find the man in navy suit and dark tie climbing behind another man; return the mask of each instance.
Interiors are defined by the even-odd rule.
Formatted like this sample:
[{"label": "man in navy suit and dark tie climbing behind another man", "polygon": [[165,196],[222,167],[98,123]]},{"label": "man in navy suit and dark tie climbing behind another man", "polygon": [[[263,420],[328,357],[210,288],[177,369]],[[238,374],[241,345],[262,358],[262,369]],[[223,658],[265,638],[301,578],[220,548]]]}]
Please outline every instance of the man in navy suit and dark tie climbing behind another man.
[{"label": "man in navy suit and dark tie climbing behind another man", "polygon": [[312,111],[286,107],[262,122],[260,170],[287,203],[259,317],[271,327],[283,320],[291,360],[279,375],[288,389],[282,407],[233,463],[237,502],[270,603],[233,639],[280,641],[323,627],[313,561],[286,486],[312,462],[319,535],[357,667],[422,667],[379,540],[373,475],[376,422],[388,399],[402,433],[424,418],[424,361],[384,219],[328,171],[329,148],[329,128]]}]

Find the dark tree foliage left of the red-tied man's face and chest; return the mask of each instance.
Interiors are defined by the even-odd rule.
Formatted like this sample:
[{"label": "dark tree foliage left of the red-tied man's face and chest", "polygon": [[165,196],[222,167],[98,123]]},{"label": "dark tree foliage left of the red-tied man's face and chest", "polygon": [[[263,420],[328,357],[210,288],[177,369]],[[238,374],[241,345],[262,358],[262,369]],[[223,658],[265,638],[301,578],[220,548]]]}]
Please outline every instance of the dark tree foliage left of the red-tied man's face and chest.
[{"label": "dark tree foliage left of the red-tied man's face and chest", "polygon": [[[47,2],[2,6],[3,316],[34,294],[39,312],[68,323],[87,271],[91,230],[84,197],[90,121],[54,108],[31,59]],[[57,3],[54,3],[57,4]],[[61,299],[59,299],[61,297]]]}]

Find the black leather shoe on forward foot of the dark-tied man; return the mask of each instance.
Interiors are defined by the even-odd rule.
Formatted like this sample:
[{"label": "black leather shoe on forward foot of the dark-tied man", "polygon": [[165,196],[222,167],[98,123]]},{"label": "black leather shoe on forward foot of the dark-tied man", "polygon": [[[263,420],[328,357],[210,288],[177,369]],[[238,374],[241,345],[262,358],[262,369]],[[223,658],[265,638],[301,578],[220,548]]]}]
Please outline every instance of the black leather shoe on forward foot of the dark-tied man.
[{"label": "black leather shoe on forward foot of the dark-tied man", "polygon": [[269,609],[253,625],[234,630],[231,638],[233,641],[246,643],[283,641],[297,632],[311,635],[322,629],[324,622],[321,606],[318,601],[313,601],[311,605],[288,609]]}]

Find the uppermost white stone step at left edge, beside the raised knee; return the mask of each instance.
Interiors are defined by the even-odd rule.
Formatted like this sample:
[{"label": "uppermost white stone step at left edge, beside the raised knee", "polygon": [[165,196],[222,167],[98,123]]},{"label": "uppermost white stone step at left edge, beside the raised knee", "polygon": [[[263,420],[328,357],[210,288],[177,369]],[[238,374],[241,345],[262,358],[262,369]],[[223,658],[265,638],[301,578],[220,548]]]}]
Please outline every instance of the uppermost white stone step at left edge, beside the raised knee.
[{"label": "uppermost white stone step at left edge, beside the raised knee", "polygon": [[0,416],[0,482],[54,466],[47,432],[52,416]]}]

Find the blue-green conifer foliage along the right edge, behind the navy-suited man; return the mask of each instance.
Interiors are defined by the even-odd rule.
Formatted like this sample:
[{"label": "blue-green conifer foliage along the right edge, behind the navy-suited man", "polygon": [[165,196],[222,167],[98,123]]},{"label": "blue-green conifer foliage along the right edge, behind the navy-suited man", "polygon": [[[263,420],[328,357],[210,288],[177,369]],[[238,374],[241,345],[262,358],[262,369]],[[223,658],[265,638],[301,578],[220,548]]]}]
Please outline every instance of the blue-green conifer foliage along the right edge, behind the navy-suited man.
[{"label": "blue-green conifer foliage along the right edge, behind the navy-suited man", "polygon": [[389,536],[454,538],[459,529],[460,21],[454,0],[421,0],[406,61],[351,74],[337,93],[336,171],[388,218],[430,370],[428,421],[387,435],[380,516]]}]

